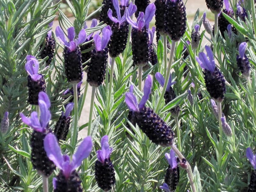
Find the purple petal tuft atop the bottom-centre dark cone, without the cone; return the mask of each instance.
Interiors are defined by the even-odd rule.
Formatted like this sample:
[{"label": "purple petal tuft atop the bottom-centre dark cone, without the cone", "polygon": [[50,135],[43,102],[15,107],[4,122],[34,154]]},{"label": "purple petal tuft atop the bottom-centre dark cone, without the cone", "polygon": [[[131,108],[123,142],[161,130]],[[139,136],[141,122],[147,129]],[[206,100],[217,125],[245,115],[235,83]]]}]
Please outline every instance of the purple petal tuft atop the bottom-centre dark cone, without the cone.
[{"label": "purple petal tuft atop the bottom-centre dark cone, without the cone", "polygon": [[101,138],[100,141],[101,144],[101,150],[98,150],[96,152],[97,158],[101,163],[104,163],[105,159],[109,159],[110,153],[113,151],[113,148],[109,147],[108,144],[108,135],[105,135]]}]

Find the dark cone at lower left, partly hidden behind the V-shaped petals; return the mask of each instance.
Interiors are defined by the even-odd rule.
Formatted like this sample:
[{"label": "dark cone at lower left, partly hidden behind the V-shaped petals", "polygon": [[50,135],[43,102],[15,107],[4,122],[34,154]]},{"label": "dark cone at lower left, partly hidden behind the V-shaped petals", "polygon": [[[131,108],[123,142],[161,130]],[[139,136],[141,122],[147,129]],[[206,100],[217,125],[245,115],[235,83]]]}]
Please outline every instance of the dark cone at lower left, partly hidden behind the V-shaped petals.
[{"label": "dark cone at lower left, partly hidden behind the V-shaped petals", "polygon": [[48,177],[55,170],[56,166],[46,156],[44,150],[44,138],[46,133],[33,131],[30,145],[31,145],[31,162],[33,168],[36,169],[38,174]]}]

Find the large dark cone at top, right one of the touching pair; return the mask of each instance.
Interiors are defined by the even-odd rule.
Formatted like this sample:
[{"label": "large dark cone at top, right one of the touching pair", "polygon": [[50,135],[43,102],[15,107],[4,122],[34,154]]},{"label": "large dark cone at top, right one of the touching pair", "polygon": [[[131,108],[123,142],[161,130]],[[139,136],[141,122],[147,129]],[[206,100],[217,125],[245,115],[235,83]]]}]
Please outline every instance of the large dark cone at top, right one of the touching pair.
[{"label": "large dark cone at top, right one of the touching pair", "polygon": [[186,31],[186,7],[182,0],[166,1],[165,26],[173,41],[179,41]]}]

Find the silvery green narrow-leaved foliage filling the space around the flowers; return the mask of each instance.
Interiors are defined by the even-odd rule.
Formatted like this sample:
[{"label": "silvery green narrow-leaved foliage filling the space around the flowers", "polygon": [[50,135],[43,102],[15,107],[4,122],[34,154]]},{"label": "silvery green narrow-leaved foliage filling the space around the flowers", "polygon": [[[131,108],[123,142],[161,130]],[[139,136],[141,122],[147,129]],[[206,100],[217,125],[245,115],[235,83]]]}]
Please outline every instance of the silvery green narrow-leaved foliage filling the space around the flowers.
[{"label": "silvery green narrow-leaved foliage filling the space around the flowers", "polygon": [[[82,2],[84,4],[82,4]],[[31,130],[21,124],[19,112],[29,116],[31,107],[27,103],[27,74],[24,70],[26,56],[28,54],[38,56],[41,44],[50,28],[48,24],[54,19],[55,13],[59,12],[59,22],[63,29],[74,26],[76,33],[84,28],[84,21],[89,17],[88,7],[90,0],[67,1],[71,12],[75,16],[72,23],[59,9],[59,4],[50,1],[35,0],[2,0],[0,1],[0,116],[5,111],[9,112],[9,131],[0,134],[0,191],[37,191],[42,189],[41,178],[32,169],[30,162],[29,140]],[[231,5],[236,11],[236,4]],[[245,157],[247,147],[251,147],[255,153],[254,135],[256,134],[256,41],[252,27],[251,6],[244,1],[244,8],[248,10],[248,19],[229,19],[229,22],[236,28],[237,34],[224,34],[225,38],[219,36],[218,41],[213,42],[208,36],[201,33],[199,47],[196,55],[190,45],[186,43],[190,40],[191,31],[188,29],[181,41],[176,43],[174,63],[172,64],[172,76],[177,83],[173,89],[179,95],[176,99],[165,104],[164,100],[159,101],[161,94],[160,85],[153,81],[152,94],[146,103],[147,107],[156,109],[160,102],[158,111],[155,111],[168,125],[173,127],[176,133],[176,125],[169,111],[178,105],[181,108],[179,116],[182,154],[190,163],[197,191],[246,191],[252,166]],[[196,10],[195,10],[196,11]],[[201,17],[201,16],[200,16]],[[92,17],[91,17],[92,18]],[[196,12],[194,22],[202,27],[202,20],[199,19],[199,10]],[[198,22],[199,21],[199,22]],[[105,25],[100,23],[94,28],[87,28],[86,34],[100,31]],[[53,33],[53,37],[55,35]],[[236,66],[236,56],[238,54],[237,44],[248,39],[246,54],[251,64],[250,82],[239,74]],[[55,38],[56,39],[56,38]],[[221,103],[222,113],[226,116],[227,122],[231,126],[233,134],[226,137],[222,134],[222,154],[219,155],[219,122],[212,114],[210,105],[210,95],[206,91],[204,77],[198,68],[195,56],[198,52],[203,52],[202,40],[206,39],[208,45],[213,44],[215,48],[215,62],[222,71],[226,79],[226,94]],[[182,59],[184,44],[187,45],[189,56]],[[71,85],[67,83],[64,75],[63,57],[60,52],[62,45],[56,44],[56,52],[49,68],[45,68],[45,60],[39,60],[39,72],[46,79],[47,94],[50,96],[52,108],[52,120],[50,128],[53,128],[60,116],[63,104],[68,103],[71,95],[63,95]],[[113,191],[161,191],[160,186],[164,182],[164,174],[168,166],[164,154],[170,151],[152,143],[146,135],[140,131],[137,125],[131,129],[125,125],[127,123],[128,109],[124,103],[124,95],[129,91],[132,84],[134,95],[140,100],[143,93],[137,88],[138,80],[137,68],[132,67],[132,48],[127,43],[127,47],[119,57],[116,57],[114,68],[113,92],[108,106],[108,81],[100,85],[96,91],[97,102],[94,104],[93,114],[95,119],[92,122],[91,136],[93,138],[92,154],[81,167],[77,169],[82,181],[84,191],[99,191],[94,179],[94,163],[96,161],[96,151],[100,149],[100,138],[104,135],[109,137],[109,145],[113,147],[111,160],[116,172],[116,184]],[[88,50],[86,50],[88,51]],[[162,41],[157,44],[157,58],[160,65],[150,66],[143,73],[143,80],[148,74],[160,72],[164,74]],[[188,66],[188,75],[183,78],[183,68]],[[108,79],[108,73],[106,79]],[[191,86],[194,83],[195,86]],[[193,105],[189,104],[187,91],[191,90]],[[79,99],[78,108],[81,108],[84,97],[84,89],[81,87],[82,95]],[[197,93],[202,92],[203,99],[199,100]],[[67,97],[64,101],[63,97]],[[89,95],[87,94],[87,97]],[[32,107],[32,111],[35,109]],[[84,114],[79,118],[83,118]],[[71,117],[72,122],[72,117]],[[72,124],[72,123],[71,123]],[[24,129],[25,127],[25,129]],[[72,126],[71,126],[72,127]],[[80,130],[87,127],[84,124]],[[72,128],[71,128],[72,129]],[[126,134],[127,132],[128,134]],[[79,141],[79,140],[78,140]],[[70,145],[70,133],[67,142],[60,142],[62,152],[72,155],[73,148]],[[52,191],[52,177],[49,178],[49,191]],[[2,182],[3,181],[3,182]],[[177,192],[190,189],[187,174],[180,171],[180,182]],[[190,189],[191,191],[191,189]]]}]

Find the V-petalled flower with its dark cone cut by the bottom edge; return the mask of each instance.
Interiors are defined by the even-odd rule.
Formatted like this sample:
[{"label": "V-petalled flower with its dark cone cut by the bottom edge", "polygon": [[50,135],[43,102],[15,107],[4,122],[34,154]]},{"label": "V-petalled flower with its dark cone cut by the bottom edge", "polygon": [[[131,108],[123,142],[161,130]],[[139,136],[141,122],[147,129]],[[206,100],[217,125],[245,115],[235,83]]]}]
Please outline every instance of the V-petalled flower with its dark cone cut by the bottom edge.
[{"label": "V-petalled flower with its dark cone cut by the bottom edge", "polygon": [[53,191],[74,191],[82,192],[81,179],[76,168],[82,164],[92,151],[92,139],[90,136],[84,138],[76,152],[70,157],[62,155],[56,137],[49,133],[44,139],[44,148],[47,156],[60,169],[60,173],[53,178]]}]

